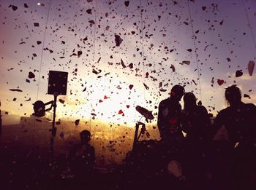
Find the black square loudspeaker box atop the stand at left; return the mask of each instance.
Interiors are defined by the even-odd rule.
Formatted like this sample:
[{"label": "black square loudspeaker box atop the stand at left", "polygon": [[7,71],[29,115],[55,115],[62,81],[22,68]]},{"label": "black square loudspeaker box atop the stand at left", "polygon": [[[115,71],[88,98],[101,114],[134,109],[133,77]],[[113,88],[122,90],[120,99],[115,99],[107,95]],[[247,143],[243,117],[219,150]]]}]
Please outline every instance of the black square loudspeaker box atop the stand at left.
[{"label": "black square loudspeaker box atop the stand at left", "polygon": [[67,72],[49,71],[48,95],[67,95]]}]

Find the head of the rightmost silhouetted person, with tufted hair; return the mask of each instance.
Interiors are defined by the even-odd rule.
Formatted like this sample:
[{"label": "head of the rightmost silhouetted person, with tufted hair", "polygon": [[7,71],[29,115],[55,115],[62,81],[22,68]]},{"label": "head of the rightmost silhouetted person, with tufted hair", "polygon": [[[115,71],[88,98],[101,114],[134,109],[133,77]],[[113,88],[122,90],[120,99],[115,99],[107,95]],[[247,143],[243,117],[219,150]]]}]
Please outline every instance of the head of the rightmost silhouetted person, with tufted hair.
[{"label": "head of the rightmost silhouetted person, with tufted hair", "polygon": [[227,100],[227,103],[231,105],[234,105],[236,103],[241,102],[241,90],[236,87],[236,85],[232,85],[230,87],[227,87],[225,91],[225,98]]}]

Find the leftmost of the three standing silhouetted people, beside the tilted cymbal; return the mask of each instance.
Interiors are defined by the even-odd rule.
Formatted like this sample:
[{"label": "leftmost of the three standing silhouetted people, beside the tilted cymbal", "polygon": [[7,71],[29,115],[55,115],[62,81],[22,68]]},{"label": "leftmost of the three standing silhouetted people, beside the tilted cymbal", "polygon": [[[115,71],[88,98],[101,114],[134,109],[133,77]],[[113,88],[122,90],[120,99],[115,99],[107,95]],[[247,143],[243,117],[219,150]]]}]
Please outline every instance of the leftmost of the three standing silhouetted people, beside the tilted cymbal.
[{"label": "leftmost of the three standing silhouetted people, beside the tilted cymbal", "polygon": [[157,125],[164,143],[184,138],[181,132],[181,104],[179,103],[184,92],[184,87],[175,85],[171,89],[170,98],[159,103]]}]

